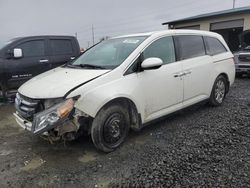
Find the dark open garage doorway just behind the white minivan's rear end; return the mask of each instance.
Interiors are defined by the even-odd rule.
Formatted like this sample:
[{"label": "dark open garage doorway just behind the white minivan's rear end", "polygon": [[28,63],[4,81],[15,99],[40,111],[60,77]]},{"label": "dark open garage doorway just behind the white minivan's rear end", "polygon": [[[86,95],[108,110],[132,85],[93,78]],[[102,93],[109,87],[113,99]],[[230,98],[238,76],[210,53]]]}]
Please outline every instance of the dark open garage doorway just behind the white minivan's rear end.
[{"label": "dark open garage doorway just behind the white minivan's rear end", "polygon": [[239,41],[239,35],[242,33],[243,28],[230,28],[230,29],[220,29],[220,30],[214,30],[213,32],[219,33],[223,36],[226,43],[228,44],[228,47],[232,52],[235,52],[239,50],[240,41]]}]

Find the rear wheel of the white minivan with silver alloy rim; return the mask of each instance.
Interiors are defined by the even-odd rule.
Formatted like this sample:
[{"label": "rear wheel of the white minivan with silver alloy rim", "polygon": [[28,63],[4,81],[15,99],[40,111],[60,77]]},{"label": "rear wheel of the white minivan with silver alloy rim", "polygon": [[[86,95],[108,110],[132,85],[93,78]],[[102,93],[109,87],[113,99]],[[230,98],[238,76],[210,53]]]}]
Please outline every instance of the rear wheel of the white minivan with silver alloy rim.
[{"label": "rear wheel of the white minivan with silver alloy rim", "polygon": [[213,89],[209,98],[209,104],[212,106],[220,106],[226,97],[227,88],[228,82],[226,78],[222,75],[218,76],[213,85]]}]

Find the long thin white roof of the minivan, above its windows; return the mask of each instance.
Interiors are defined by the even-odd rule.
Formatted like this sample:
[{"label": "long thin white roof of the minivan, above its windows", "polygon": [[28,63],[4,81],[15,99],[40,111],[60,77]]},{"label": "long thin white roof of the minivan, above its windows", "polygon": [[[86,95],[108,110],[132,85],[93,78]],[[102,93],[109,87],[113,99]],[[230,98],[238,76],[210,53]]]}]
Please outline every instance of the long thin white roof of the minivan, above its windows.
[{"label": "long thin white roof of the minivan, above its windows", "polygon": [[153,31],[153,32],[146,32],[146,33],[135,33],[130,35],[122,35],[117,36],[114,38],[124,38],[124,37],[139,37],[139,36],[161,36],[161,35],[171,35],[171,34],[194,34],[194,35],[207,35],[207,36],[220,36],[217,33],[210,32],[210,31],[201,31],[201,30],[190,30],[190,29],[169,29],[169,30],[161,30],[161,31]]}]

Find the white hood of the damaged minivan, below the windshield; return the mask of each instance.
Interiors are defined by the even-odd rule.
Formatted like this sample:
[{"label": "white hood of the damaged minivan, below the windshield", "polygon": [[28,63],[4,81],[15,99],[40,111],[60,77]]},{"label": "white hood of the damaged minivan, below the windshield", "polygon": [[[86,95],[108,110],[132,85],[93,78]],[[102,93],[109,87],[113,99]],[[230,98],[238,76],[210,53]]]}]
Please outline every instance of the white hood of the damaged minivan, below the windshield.
[{"label": "white hood of the damaged minivan, below the windshield", "polygon": [[108,71],[59,67],[27,81],[18,92],[34,99],[59,98],[74,87]]}]

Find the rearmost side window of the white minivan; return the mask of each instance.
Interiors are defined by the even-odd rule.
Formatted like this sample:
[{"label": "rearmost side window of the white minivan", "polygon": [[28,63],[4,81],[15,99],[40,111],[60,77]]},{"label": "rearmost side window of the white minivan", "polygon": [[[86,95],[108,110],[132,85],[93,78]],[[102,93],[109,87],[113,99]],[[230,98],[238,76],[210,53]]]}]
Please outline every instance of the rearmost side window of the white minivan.
[{"label": "rearmost side window of the white minivan", "polygon": [[223,52],[226,52],[224,45],[216,38],[213,37],[204,37],[207,54],[216,55]]}]

